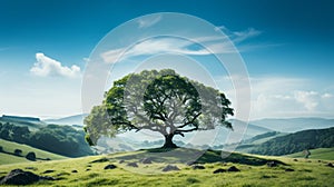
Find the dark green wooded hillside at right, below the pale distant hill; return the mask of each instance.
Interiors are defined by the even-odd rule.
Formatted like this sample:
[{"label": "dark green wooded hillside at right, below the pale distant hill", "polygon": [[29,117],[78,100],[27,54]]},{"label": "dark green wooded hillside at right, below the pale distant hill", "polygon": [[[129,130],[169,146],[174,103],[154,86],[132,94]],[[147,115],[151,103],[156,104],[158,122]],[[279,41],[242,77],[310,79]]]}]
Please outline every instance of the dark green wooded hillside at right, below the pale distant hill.
[{"label": "dark green wooded hillside at right, below the pale distant hill", "polygon": [[252,154],[288,155],[306,149],[334,147],[334,128],[303,130],[283,137],[273,138],[255,149]]}]

